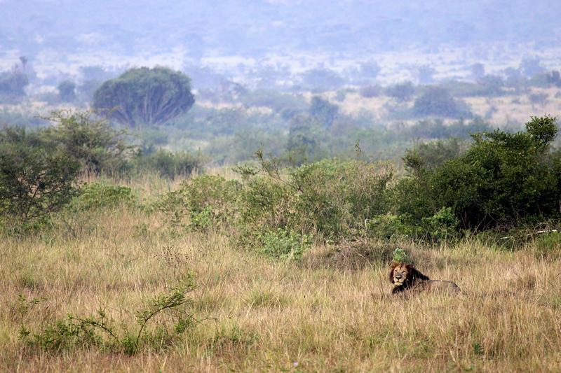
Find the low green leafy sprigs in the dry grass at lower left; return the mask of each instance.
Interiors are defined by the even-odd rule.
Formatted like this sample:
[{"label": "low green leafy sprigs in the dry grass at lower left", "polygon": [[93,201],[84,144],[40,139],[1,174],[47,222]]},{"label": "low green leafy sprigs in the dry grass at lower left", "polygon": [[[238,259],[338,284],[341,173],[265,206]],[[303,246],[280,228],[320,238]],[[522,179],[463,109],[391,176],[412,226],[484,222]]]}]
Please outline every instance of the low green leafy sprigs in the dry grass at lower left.
[{"label": "low green leafy sprigs in the dry grass at lower left", "polygon": [[[154,297],[146,307],[134,311],[136,330],[130,330],[128,325],[116,325],[107,311],[99,309],[95,316],[79,317],[69,314],[63,320],[32,331],[26,325],[27,314],[32,308],[38,307],[41,300],[28,300],[20,295],[20,339],[29,346],[52,352],[96,346],[133,355],[146,349],[163,349],[196,322],[191,313],[192,300],[187,297],[187,293],[194,288],[194,278],[189,274],[168,293]],[[166,311],[171,314],[163,317]],[[160,321],[152,326],[156,318]]]}]

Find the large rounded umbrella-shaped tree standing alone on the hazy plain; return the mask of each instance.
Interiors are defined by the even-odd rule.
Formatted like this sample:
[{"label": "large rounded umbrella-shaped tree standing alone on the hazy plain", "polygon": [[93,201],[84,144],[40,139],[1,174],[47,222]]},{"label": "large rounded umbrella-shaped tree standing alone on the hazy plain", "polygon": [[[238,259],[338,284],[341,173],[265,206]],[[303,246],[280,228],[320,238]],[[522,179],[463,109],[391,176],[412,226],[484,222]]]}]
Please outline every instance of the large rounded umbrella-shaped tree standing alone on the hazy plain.
[{"label": "large rounded umbrella-shaped tree standing alone on the hazy plain", "polygon": [[130,127],[165,123],[194,102],[191,79],[165,67],[129,69],[103,83],[93,97],[96,110]]}]

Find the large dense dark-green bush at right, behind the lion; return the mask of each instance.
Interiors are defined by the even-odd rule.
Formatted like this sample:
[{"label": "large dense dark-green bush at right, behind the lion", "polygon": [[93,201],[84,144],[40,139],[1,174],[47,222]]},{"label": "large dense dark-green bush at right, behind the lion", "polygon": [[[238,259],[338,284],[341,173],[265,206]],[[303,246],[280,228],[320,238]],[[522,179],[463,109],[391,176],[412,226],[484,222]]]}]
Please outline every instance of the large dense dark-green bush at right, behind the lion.
[{"label": "large dense dark-green bush at right, behind the lion", "polygon": [[474,134],[466,153],[438,167],[409,153],[410,176],[396,188],[398,213],[422,225],[423,218],[450,208],[472,230],[558,216],[561,160],[549,153],[556,134],[555,118],[532,118],[524,132]]}]

